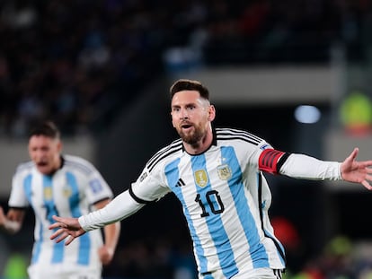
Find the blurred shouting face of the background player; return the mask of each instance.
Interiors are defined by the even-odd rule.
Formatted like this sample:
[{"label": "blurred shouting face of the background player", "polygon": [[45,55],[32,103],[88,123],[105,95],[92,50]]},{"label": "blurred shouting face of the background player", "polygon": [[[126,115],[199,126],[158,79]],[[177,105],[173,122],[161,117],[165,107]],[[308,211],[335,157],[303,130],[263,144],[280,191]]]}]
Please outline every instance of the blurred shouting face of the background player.
[{"label": "blurred shouting face of the background player", "polygon": [[32,135],[29,140],[29,155],[42,174],[52,174],[60,165],[62,144],[58,139],[45,135]]}]

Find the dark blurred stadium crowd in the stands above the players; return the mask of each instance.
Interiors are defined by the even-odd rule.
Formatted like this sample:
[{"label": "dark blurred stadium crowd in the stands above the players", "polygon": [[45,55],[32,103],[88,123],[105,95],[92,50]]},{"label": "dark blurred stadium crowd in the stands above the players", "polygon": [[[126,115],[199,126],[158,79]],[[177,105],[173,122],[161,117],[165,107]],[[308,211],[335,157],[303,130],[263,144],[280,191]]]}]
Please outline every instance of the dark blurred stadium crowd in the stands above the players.
[{"label": "dark blurred stadium crowd in the stands above the players", "polygon": [[45,117],[65,134],[99,131],[163,73],[170,48],[190,51],[167,59],[197,52],[207,65],[327,63],[338,41],[360,49],[370,6],[366,0],[1,1],[0,132],[22,136]]}]

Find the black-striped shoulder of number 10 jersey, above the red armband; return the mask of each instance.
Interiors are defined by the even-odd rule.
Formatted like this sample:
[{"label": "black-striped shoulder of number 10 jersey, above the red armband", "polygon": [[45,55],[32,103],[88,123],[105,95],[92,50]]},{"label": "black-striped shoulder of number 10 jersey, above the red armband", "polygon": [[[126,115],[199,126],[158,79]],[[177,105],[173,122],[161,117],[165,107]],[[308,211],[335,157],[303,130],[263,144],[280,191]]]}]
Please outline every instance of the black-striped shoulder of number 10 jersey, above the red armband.
[{"label": "black-striped shoulder of number 10 jersey, above the red armband", "polygon": [[238,144],[247,143],[253,145],[260,145],[264,140],[257,135],[253,135],[242,129],[219,127],[216,128],[217,144]]}]

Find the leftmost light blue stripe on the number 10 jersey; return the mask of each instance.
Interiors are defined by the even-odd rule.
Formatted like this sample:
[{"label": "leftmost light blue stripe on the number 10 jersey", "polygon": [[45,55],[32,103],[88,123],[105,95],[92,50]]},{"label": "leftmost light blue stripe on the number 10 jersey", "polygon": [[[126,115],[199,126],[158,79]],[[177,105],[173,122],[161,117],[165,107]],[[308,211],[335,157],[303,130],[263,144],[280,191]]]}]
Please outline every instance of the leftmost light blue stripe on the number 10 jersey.
[{"label": "leftmost light blue stripe on the number 10 jersey", "polygon": [[[180,179],[180,172],[178,170],[178,164],[180,163],[180,159],[177,159],[170,164],[168,164],[165,167],[165,176],[168,181],[169,187],[173,190],[173,193],[175,196],[178,197],[180,200],[182,206],[183,206],[183,214],[185,215],[185,218],[187,220],[187,223],[189,225],[189,230],[190,230],[190,235],[191,239],[194,242],[195,249],[196,249],[196,254],[198,256],[198,261],[199,261],[199,268],[201,272],[207,271],[207,258],[204,257],[204,249],[201,247],[199,237],[195,231],[195,228],[193,226],[192,220],[190,218],[190,212],[189,209],[185,203],[185,200],[182,195],[182,188],[181,187],[176,187],[178,179]],[[182,186],[182,187],[187,187],[187,186]]]}]

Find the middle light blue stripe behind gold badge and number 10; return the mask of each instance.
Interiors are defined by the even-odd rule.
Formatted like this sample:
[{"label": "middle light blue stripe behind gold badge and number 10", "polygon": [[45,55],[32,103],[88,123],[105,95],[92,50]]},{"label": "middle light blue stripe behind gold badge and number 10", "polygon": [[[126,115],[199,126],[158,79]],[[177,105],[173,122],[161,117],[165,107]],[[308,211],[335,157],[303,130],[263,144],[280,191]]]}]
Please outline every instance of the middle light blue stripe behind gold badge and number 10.
[{"label": "middle light blue stripe behind gold badge and number 10", "polygon": [[[198,170],[204,170],[207,173],[206,158],[204,154],[199,156],[193,156],[191,158],[191,168],[193,173]],[[201,201],[205,206],[205,209],[208,216],[204,217],[205,222],[208,226],[209,234],[212,237],[213,242],[215,243],[215,248],[217,249],[217,257],[219,259],[220,266],[222,267],[222,272],[226,278],[230,278],[232,275],[235,275],[238,271],[234,254],[232,253],[233,248],[231,247],[230,241],[228,239],[227,233],[224,228],[224,224],[221,220],[220,214],[213,214],[212,209],[207,201],[208,193],[212,190],[210,186],[210,180],[208,178],[208,183],[205,187],[197,186],[197,192],[200,195]],[[210,202],[214,205],[214,208],[217,209],[220,205],[216,200],[212,200],[214,195],[209,196],[211,199]]]}]

